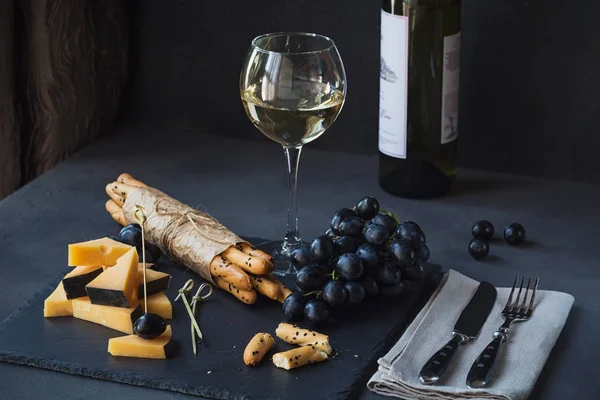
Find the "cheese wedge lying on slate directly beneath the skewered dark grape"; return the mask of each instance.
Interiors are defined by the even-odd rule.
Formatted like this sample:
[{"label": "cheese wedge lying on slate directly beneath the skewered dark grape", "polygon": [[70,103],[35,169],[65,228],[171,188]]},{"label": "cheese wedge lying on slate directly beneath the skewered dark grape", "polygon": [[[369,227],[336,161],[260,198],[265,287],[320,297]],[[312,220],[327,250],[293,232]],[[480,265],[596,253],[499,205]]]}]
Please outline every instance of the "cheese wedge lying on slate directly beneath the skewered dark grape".
[{"label": "cheese wedge lying on slate directly beneath the skewered dark grape", "polygon": [[162,335],[150,340],[135,335],[112,338],[108,341],[108,352],[117,357],[165,359],[169,356],[172,337],[169,325]]}]

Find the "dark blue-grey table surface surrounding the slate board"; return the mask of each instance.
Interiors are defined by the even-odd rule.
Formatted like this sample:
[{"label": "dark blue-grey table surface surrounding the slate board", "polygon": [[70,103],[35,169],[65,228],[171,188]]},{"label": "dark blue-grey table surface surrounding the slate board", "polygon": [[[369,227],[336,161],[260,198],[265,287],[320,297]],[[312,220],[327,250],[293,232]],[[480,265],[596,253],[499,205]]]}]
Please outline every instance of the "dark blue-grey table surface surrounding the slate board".
[{"label": "dark blue-grey table surface surrounding the slate board", "polygon": [[[461,170],[449,195],[416,201],[381,191],[376,157],[309,145],[300,164],[300,223],[307,239],[323,231],[335,209],[370,194],[423,227],[432,262],[497,286],[510,285],[516,273],[537,274],[543,289],[573,294],[571,315],[531,398],[595,398],[600,391],[600,370],[593,367],[600,359],[600,186]],[[284,232],[286,176],[278,145],[115,129],[0,201],[0,320],[56,277],[56,265],[66,265],[68,243],[114,231],[114,222],[104,215],[104,186],[123,171],[204,207],[241,235],[278,238]],[[497,232],[520,222],[528,242],[512,248],[494,241],[490,256],[475,261],[466,248],[470,227],[479,219],[492,221]],[[0,398],[193,397],[0,364]]]}]

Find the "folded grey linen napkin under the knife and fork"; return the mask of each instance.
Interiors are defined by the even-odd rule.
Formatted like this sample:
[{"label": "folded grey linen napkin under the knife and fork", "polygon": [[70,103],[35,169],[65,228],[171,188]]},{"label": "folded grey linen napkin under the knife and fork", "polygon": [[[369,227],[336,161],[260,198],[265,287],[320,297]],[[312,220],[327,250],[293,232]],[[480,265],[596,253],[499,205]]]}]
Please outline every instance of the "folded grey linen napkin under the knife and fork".
[{"label": "folded grey linen napkin under the knife and fork", "polygon": [[369,380],[369,389],[405,400],[526,399],[567,320],[574,301],[570,294],[538,290],[533,316],[527,322],[515,323],[508,342],[500,349],[489,387],[469,389],[465,381],[473,361],[504,322],[500,313],[510,288],[499,288],[479,336],[460,348],[437,384],[419,382],[419,371],[450,339],[454,323],[478,285],[450,270],[398,343],[379,360],[379,370]]}]

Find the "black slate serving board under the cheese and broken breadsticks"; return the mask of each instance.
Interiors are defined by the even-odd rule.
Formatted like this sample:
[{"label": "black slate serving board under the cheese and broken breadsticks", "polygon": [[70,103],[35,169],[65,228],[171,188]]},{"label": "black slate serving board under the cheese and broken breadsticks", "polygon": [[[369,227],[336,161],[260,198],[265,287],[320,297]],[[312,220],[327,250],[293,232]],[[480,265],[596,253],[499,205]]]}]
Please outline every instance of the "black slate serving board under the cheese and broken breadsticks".
[{"label": "black slate serving board under the cheese and broken breadsticks", "polygon": [[[252,240],[260,243],[262,240]],[[163,257],[157,268],[171,274],[169,299],[187,279],[202,279]],[[321,329],[335,349],[330,360],[293,371],[275,368],[265,359],[259,367],[244,365],[242,353],[256,332],[270,332],[282,321],[279,303],[261,298],[247,306],[215,290],[198,310],[205,340],[194,356],[190,320],[181,302],[173,303],[174,355],[167,360],[112,357],[108,339],[121,333],[72,317],[44,318],[44,299],[57,277],[0,325],[0,361],[73,375],[164,389],[211,399],[348,399],[364,389],[377,358],[399,337],[433,291],[432,280],[413,283],[393,301],[372,300],[343,312]],[[433,276],[439,267],[429,267]],[[198,286],[196,286],[198,287]],[[276,341],[275,351],[293,346]]]}]

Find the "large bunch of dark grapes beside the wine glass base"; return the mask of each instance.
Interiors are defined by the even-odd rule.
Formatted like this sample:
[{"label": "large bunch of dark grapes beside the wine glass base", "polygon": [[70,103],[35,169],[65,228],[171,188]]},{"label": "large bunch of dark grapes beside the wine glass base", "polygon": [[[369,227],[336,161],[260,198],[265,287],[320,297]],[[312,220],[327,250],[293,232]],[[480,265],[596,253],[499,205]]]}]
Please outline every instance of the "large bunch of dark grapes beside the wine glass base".
[{"label": "large bunch of dark grapes beside the wine glass base", "polygon": [[352,209],[337,210],[324,235],[293,251],[296,292],[283,303],[283,313],[291,321],[322,323],[334,309],[399,296],[405,281],[423,278],[429,255],[417,223],[400,222],[380,210],[377,199],[365,197]]}]

